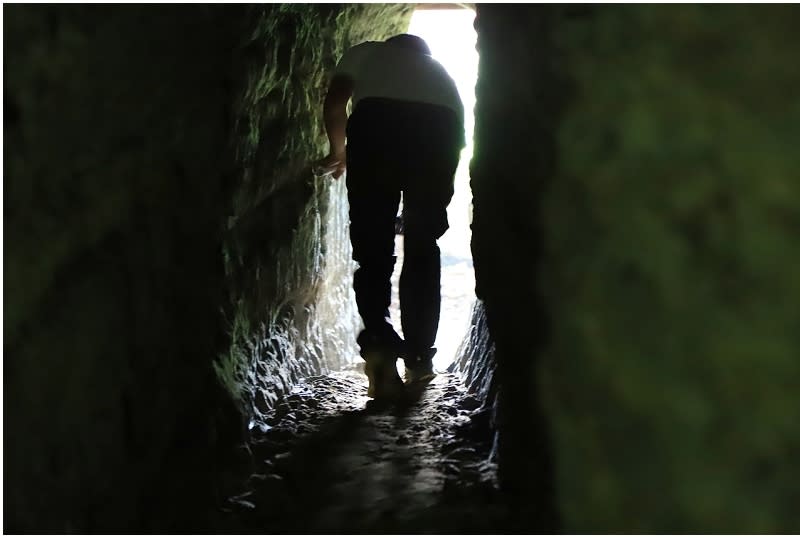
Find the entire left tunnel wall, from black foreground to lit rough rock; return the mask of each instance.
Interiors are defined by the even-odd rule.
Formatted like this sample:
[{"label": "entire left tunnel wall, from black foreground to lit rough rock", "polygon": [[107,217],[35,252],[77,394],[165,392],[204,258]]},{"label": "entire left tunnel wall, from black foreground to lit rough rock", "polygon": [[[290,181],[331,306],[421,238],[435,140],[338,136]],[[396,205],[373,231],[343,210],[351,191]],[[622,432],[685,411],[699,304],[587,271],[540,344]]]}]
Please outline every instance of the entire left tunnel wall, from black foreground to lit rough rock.
[{"label": "entire left tunnel wall, from black foreground to lit rough rock", "polygon": [[243,431],[226,320],[321,337],[327,247],[292,238],[342,243],[303,171],[325,73],[409,10],[4,8],[6,531],[209,528]]}]

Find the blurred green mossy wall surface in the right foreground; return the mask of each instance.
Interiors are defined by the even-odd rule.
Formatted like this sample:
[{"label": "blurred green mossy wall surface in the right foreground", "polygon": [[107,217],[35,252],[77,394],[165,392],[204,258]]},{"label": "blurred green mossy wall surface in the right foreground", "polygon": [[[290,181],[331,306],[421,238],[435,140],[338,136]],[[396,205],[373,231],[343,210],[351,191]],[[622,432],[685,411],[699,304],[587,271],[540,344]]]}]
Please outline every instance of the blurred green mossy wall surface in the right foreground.
[{"label": "blurred green mossy wall surface in the right foreground", "polygon": [[797,532],[795,7],[598,7],[544,200],[574,532]]}]

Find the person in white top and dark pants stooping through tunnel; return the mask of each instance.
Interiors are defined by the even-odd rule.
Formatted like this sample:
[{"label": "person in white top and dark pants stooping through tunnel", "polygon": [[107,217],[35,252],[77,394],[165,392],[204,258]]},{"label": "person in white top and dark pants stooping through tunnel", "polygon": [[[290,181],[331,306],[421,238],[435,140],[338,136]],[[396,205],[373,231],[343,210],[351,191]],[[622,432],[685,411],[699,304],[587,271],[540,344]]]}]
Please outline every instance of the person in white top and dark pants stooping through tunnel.
[{"label": "person in white top and dark pants stooping through tunnel", "polygon": [[[441,303],[437,239],[448,228],[447,205],[466,144],[464,106],[427,43],[401,34],[344,54],[328,88],[324,120],[330,150],[318,166],[335,178],[347,171],[350,240],[358,263],[353,288],[364,323],[357,342],[369,378],[367,394],[397,397],[403,391],[398,358],[405,361],[407,383],[435,376]],[[389,315],[401,194],[404,339]]]}]

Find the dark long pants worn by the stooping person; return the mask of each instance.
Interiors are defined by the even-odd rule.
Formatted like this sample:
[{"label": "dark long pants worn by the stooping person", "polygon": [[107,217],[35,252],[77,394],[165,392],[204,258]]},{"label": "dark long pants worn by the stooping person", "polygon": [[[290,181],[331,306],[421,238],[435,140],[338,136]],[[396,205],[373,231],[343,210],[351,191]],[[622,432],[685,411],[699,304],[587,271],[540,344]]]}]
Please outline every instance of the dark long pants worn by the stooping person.
[{"label": "dark long pants worn by the stooping person", "polygon": [[[440,259],[447,205],[463,127],[449,109],[364,99],[347,123],[347,192],[353,277],[364,331],[361,352],[407,359],[432,356],[439,326]],[[395,264],[395,217],[403,195],[404,262],[400,274],[403,343],[389,321]]]}]

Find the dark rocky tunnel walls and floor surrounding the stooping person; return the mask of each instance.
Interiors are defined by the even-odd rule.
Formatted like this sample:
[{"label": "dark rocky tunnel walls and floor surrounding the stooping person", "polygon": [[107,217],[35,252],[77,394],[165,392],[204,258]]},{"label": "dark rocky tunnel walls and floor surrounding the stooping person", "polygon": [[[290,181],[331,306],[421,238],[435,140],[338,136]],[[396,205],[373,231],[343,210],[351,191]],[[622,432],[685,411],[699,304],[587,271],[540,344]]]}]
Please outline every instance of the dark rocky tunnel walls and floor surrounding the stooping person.
[{"label": "dark rocky tunnel walls and floor surrounding the stooping person", "polygon": [[[375,409],[312,163],[417,9],[474,12],[474,300]],[[799,16],[4,5],[4,532],[799,532]]]}]

